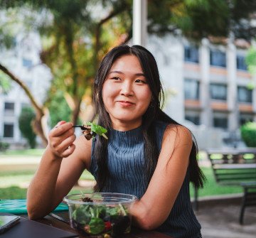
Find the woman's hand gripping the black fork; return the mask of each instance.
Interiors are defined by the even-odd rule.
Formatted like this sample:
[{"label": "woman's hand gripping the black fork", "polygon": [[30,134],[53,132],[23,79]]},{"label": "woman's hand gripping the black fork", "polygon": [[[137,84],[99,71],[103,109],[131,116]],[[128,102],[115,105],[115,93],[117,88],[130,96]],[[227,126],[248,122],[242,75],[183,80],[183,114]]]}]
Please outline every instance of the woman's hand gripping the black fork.
[{"label": "woman's hand gripping the black fork", "polygon": [[71,122],[60,121],[49,133],[48,148],[58,158],[70,156],[75,150],[75,130]]}]

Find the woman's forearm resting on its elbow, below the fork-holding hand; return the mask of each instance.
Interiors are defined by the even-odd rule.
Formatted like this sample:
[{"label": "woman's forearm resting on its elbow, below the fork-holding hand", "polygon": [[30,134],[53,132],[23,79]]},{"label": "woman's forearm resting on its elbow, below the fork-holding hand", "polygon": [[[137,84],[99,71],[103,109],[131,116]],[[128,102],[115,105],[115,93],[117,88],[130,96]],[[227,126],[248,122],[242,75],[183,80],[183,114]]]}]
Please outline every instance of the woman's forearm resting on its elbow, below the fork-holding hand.
[{"label": "woman's forearm resting on its elbow, below the fork-holding hand", "polygon": [[46,148],[38,171],[28,187],[28,217],[44,217],[58,205],[60,198],[55,198],[55,185],[60,171],[62,158],[58,158]]}]

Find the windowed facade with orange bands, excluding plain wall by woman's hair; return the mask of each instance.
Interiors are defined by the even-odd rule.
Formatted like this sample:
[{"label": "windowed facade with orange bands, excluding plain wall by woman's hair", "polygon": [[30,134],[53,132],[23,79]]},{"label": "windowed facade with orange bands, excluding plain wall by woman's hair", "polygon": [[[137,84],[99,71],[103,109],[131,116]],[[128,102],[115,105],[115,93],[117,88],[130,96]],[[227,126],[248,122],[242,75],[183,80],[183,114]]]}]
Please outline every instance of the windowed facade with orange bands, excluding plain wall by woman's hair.
[{"label": "windowed facade with orange bands, excluding plain wall by woman's hair", "polygon": [[247,47],[245,41],[213,45],[206,39],[200,47],[184,45],[185,119],[229,131],[255,119],[256,90],[248,87],[253,79],[245,64]]}]

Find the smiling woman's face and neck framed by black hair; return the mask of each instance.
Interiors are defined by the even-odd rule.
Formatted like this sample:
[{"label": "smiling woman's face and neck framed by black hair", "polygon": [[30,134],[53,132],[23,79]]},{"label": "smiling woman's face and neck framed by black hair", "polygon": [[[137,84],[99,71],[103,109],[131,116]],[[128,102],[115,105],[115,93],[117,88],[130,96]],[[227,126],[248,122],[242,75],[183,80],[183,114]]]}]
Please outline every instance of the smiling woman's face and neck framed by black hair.
[{"label": "smiling woman's face and neck framed by black hair", "polygon": [[102,99],[114,129],[134,129],[140,126],[151,95],[138,58],[134,55],[118,58],[102,87]]}]

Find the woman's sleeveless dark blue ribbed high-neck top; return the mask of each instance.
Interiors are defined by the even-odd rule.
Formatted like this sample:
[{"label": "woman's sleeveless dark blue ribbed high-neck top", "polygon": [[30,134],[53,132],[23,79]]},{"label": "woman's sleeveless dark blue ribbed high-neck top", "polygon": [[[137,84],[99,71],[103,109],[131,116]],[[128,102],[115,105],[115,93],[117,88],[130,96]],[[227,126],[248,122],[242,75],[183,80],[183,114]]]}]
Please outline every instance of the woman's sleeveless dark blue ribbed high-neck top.
[{"label": "woman's sleeveless dark blue ribbed high-neck top", "polygon": [[[155,123],[159,151],[161,150],[161,141],[167,125],[161,121],[156,121]],[[108,136],[107,164],[110,171],[110,180],[102,192],[126,193],[142,198],[148,186],[143,174],[144,139],[142,126],[131,131],[111,129]],[[92,152],[96,141],[97,137],[92,141]],[[90,173],[97,180],[97,163],[93,153]],[[188,172],[169,217],[156,230],[176,238],[201,237],[201,225],[196,219],[191,206]]]}]

